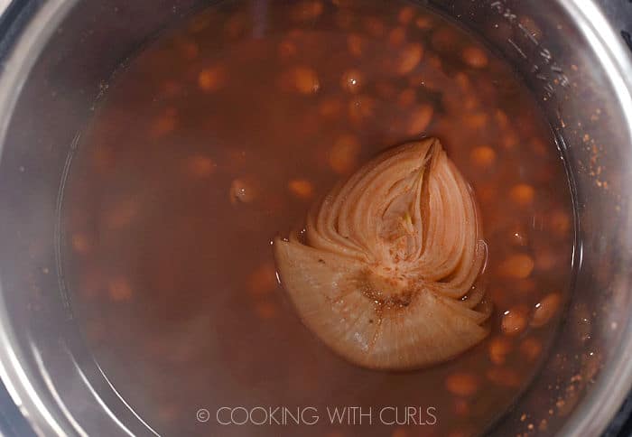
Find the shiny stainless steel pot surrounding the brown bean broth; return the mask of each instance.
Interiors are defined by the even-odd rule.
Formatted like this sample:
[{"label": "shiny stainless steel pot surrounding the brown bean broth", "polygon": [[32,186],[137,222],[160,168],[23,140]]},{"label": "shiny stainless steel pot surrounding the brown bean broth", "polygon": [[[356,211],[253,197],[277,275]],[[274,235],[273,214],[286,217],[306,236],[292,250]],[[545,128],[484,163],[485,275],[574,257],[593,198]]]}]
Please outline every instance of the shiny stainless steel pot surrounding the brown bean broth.
[{"label": "shiny stainless steel pot surrounding the brown bean broth", "polygon": [[[112,71],[164,25],[204,3],[26,1],[14,3],[0,23],[5,31],[0,43],[0,377],[39,434],[154,433],[116,393],[79,337],[58,269],[61,186],[78,132]],[[540,376],[490,433],[599,435],[632,386],[632,56],[627,47],[632,39],[618,27],[632,23],[632,4],[421,3],[469,27],[513,63],[553,126],[574,191],[570,308]]]}]

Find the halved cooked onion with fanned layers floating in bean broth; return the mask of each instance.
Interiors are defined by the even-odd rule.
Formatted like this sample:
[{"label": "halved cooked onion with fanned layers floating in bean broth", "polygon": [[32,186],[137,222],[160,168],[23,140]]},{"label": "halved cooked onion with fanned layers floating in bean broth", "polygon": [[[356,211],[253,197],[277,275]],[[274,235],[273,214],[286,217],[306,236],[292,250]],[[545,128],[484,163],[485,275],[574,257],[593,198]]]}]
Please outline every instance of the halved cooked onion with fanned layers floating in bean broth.
[{"label": "halved cooked onion with fanned layers floating in bean broth", "polygon": [[303,323],[359,366],[426,367],[488,335],[477,205],[437,139],[364,165],[274,255]]}]

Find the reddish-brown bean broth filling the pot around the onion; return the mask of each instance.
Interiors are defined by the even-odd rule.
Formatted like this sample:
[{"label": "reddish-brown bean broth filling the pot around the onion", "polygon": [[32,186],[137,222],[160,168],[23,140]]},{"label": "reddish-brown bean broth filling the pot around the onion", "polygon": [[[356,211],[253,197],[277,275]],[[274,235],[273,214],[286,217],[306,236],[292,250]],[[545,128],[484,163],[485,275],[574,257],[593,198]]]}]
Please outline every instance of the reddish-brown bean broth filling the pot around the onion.
[{"label": "reddish-brown bean broth filling the pot around the onion", "polygon": [[[302,325],[271,242],[362,163],[430,135],[479,202],[491,334],[437,367],[355,367]],[[398,1],[227,2],[163,33],[109,84],[65,199],[88,346],[162,435],[479,434],[533,377],[570,280],[568,183],[534,100],[469,34]],[[319,420],[218,423],[238,406]]]}]

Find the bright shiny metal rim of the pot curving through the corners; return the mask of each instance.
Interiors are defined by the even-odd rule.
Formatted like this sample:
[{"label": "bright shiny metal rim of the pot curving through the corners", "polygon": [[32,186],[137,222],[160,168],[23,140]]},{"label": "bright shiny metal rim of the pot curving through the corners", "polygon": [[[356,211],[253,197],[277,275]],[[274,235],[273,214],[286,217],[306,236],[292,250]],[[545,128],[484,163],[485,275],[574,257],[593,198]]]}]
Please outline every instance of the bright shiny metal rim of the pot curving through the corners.
[{"label": "bright shiny metal rim of the pot curving through the corners", "polygon": [[[0,0],[0,15],[11,2]],[[609,79],[616,89],[619,104],[624,108],[628,126],[632,126],[632,57],[627,47],[613,31],[599,6],[592,1],[556,0],[581,29],[592,49],[599,55]],[[6,57],[0,75],[0,155],[11,121],[14,107],[23,85],[44,46],[59,24],[79,0],[47,0],[28,18],[14,36],[15,42]],[[28,3],[28,2],[27,2]],[[631,142],[632,144],[632,138]],[[632,214],[632,211],[631,211]],[[632,321],[627,323],[622,348],[613,355],[609,364],[599,374],[599,384],[581,400],[581,404],[562,427],[561,435],[599,435],[608,426],[632,387]],[[55,396],[51,381],[45,381],[57,404],[49,404],[38,392],[35,371],[47,375],[45,369],[23,367],[23,356],[31,353],[38,356],[36,346],[24,351],[17,345],[14,327],[10,323],[9,311],[0,281],[0,379],[27,421],[38,434],[86,435],[79,423],[66,410],[59,396]],[[43,365],[40,364],[42,367]],[[45,378],[44,378],[45,379]],[[116,418],[115,418],[116,420]],[[119,423],[122,425],[121,423]],[[125,426],[122,425],[125,432]],[[132,435],[130,433],[130,435]]]}]

